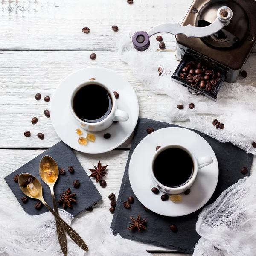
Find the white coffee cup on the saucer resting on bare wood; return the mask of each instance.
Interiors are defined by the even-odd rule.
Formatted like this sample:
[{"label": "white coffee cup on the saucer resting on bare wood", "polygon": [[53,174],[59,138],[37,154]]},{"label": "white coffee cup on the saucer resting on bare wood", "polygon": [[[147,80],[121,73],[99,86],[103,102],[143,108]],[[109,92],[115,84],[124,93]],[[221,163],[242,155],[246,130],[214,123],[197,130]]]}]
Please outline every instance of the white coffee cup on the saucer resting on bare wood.
[{"label": "white coffee cup on the saucer resting on bare wood", "polygon": [[[108,114],[108,116],[105,119],[103,119],[102,121],[94,122],[94,123],[84,122],[76,115],[76,113],[73,109],[73,99],[74,99],[74,96],[76,95],[76,93],[78,92],[78,90],[80,90],[84,86],[92,85],[92,84],[99,85],[99,86],[105,88],[105,90],[107,90],[109,95],[111,96],[111,101],[112,101],[112,109],[111,109],[111,112]],[[88,80],[88,81],[85,81],[85,82],[79,84],[71,93],[69,104],[70,104],[70,111],[71,111],[72,115],[74,116],[74,118],[77,120],[78,125],[87,131],[93,131],[93,132],[103,131],[103,130],[107,129],[109,126],[111,126],[113,121],[121,121],[122,122],[122,121],[127,121],[129,119],[128,113],[117,109],[116,97],[115,97],[113,91],[111,90],[111,88],[108,87],[106,84],[102,84],[102,82],[99,82],[96,80]],[[93,108],[93,106],[92,106],[92,108]],[[85,109],[84,111],[91,111],[91,110]]]}]

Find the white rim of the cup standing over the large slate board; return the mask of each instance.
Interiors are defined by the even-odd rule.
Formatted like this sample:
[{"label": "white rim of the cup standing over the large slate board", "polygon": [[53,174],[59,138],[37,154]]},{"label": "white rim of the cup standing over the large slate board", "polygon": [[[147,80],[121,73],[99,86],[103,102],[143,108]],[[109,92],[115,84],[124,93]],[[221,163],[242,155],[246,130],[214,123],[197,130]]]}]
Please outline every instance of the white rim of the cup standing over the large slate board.
[{"label": "white rim of the cup standing over the large slate board", "polygon": [[[192,158],[192,161],[193,161],[193,164],[194,164],[194,169],[193,169],[193,174],[192,174],[192,177],[190,178],[190,180],[182,185],[182,186],[179,186],[179,187],[168,187],[168,186],[165,186],[163,185],[162,183],[160,183],[157,178],[154,176],[154,172],[153,172],[153,166],[154,166],[154,161],[155,159],[157,158],[157,156],[163,152],[164,150],[168,149],[168,148],[180,148],[180,149],[183,149],[184,151],[186,151],[190,157]],[[153,178],[154,180],[154,183],[156,184],[159,184],[163,189],[167,189],[169,190],[170,192],[178,192],[180,191],[181,189],[184,189],[185,187],[190,187],[192,186],[192,184],[194,183],[195,181],[195,178],[197,176],[197,173],[198,173],[198,161],[195,157],[195,155],[193,154],[193,152],[191,150],[189,150],[188,148],[185,148],[183,147],[182,145],[177,145],[177,144],[170,144],[170,145],[165,145],[161,148],[159,148],[153,155],[152,157],[152,160],[151,160],[151,168],[150,168],[150,172],[151,172],[151,177]]]}]

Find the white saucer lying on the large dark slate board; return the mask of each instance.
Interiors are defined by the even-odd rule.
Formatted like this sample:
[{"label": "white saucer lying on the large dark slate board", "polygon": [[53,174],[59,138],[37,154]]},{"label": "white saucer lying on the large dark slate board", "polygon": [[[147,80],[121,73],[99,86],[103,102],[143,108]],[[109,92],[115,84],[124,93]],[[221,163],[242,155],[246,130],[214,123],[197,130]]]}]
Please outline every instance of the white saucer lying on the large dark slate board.
[{"label": "white saucer lying on the large dark slate board", "polygon": [[[195,157],[209,155],[213,159],[212,164],[198,170],[190,194],[181,194],[181,201],[176,203],[162,201],[163,192],[158,195],[151,192],[155,185],[150,175],[150,161],[157,146],[169,144],[189,148]],[[138,200],[152,212],[169,217],[183,216],[200,209],[211,198],[218,182],[218,162],[211,146],[200,135],[184,128],[163,128],[149,134],[134,149],[129,164],[129,179]]]}]

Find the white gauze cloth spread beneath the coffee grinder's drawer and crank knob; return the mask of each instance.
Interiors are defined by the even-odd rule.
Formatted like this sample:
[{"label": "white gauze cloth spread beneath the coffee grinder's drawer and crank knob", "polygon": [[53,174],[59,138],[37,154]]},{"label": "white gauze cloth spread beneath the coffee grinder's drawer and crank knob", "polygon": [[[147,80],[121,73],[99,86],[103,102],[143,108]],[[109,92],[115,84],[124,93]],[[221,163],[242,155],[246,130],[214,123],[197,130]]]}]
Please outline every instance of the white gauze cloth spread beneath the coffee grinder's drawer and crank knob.
[{"label": "white gauze cloth spread beneath the coffee grinder's drawer and crank knob", "polygon": [[[189,120],[194,129],[221,142],[231,142],[247,153],[256,154],[256,148],[252,147],[252,142],[256,141],[255,87],[224,83],[217,102],[204,96],[194,96],[185,87],[171,80],[170,64],[154,46],[150,46],[145,52],[134,49],[131,42],[133,32],[119,42],[119,56],[129,64],[137,79],[150,90],[170,96],[171,108],[166,109],[170,121]],[[158,75],[158,67],[163,69],[162,76]],[[195,104],[192,110],[189,109],[190,103]],[[184,106],[182,111],[176,107],[178,104]],[[212,125],[214,119],[224,123],[225,128],[216,129]]]}]

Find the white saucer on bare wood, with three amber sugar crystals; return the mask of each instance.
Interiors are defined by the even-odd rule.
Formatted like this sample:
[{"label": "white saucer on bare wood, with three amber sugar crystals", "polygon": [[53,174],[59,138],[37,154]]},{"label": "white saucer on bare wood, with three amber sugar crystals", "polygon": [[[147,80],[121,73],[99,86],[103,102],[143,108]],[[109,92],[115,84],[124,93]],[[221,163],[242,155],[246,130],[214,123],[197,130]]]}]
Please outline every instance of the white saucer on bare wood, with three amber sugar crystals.
[{"label": "white saucer on bare wood, with three amber sugar crystals", "polygon": [[[83,146],[77,142],[79,136],[75,130],[79,126],[70,112],[69,100],[73,89],[92,77],[108,84],[113,91],[119,93],[119,98],[116,100],[117,108],[127,112],[129,120],[112,124],[105,131],[94,132],[95,142],[89,141]],[[98,154],[111,151],[128,139],[137,124],[139,104],[131,84],[120,74],[102,67],[88,67],[72,73],[59,84],[51,100],[50,113],[52,125],[64,143],[77,151]],[[110,139],[104,139],[103,135],[106,133],[111,134]],[[87,131],[83,130],[84,137],[86,134]]]}]

